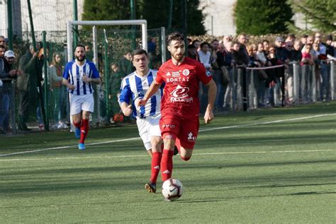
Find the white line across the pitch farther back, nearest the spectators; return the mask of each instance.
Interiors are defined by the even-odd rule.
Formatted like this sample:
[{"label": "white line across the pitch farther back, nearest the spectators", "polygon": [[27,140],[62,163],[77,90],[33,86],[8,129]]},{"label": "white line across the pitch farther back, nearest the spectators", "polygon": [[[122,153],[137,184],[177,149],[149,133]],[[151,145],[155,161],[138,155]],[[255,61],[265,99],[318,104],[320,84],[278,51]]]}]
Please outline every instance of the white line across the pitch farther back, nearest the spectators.
[{"label": "white line across the pitch farther back, nearest the spectators", "polygon": [[[314,115],[314,116],[308,116],[308,117],[298,117],[298,118],[291,118],[291,119],[281,119],[281,120],[275,120],[271,122],[260,122],[260,123],[252,123],[252,124],[240,124],[240,125],[233,125],[233,126],[220,126],[216,128],[210,128],[210,129],[200,129],[199,132],[203,131],[215,131],[215,130],[220,130],[220,129],[233,129],[233,128],[239,128],[239,127],[245,127],[245,126],[257,126],[257,125],[262,125],[262,124],[275,124],[275,123],[281,123],[281,122],[293,122],[293,121],[298,121],[298,120],[303,120],[303,119],[313,119],[313,118],[318,118],[318,117],[328,117],[328,116],[333,116],[336,115],[336,113],[332,114],[319,114],[319,115]],[[125,139],[119,139],[119,140],[112,140],[112,141],[103,141],[103,142],[97,142],[97,143],[87,143],[86,146],[96,146],[96,145],[103,145],[106,143],[116,143],[116,142],[123,142],[123,141],[133,141],[133,140],[139,140],[140,137],[135,137],[135,138],[125,138]],[[52,147],[52,148],[41,148],[41,149],[36,149],[36,150],[31,150],[31,151],[22,151],[22,152],[16,152],[16,153],[6,153],[6,154],[0,154],[0,157],[5,157],[9,155],[20,155],[20,154],[26,154],[26,153],[37,153],[41,151],[50,151],[50,150],[55,150],[55,149],[65,149],[65,148],[73,148],[77,147],[76,146],[60,146],[60,147]],[[121,156],[121,157],[128,157],[128,156]],[[25,160],[25,159],[19,159],[19,160]]]}]

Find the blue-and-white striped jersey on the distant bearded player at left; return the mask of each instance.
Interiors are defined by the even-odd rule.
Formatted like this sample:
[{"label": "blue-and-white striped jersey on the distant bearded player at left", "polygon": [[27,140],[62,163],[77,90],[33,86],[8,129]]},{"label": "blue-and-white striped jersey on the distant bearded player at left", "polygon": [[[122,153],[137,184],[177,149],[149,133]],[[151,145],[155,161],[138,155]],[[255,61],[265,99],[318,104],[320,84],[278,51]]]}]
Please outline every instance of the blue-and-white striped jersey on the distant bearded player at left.
[{"label": "blue-and-white striped jersey on the distant bearded player at left", "polygon": [[63,78],[69,79],[69,83],[74,85],[74,90],[69,90],[69,93],[74,95],[86,95],[94,93],[91,83],[85,83],[83,76],[89,78],[99,78],[99,71],[92,61],[85,61],[82,66],[79,66],[75,60],[70,61],[65,66]]}]

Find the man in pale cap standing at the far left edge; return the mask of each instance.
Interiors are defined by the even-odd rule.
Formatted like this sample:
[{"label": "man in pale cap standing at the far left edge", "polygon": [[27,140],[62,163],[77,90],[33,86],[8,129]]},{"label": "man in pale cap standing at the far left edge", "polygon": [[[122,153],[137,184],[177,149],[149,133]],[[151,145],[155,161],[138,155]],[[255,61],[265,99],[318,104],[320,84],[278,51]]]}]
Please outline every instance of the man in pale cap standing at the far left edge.
[{"label": "man in pale cap standing at the far left edge", "polygon": [[5,47],[0,45],[0,78],[4,85],[0,90],[0,134],[6,134],[10,131],[9,128],[9,106],[11,102],[11,90],[13,86],[11,85],[10,78],[16,78],[16,76],[21,75],[21,71],[12,69],[11,66],[14,62],[15,55],[14,52],[8,50],[4,52]]}]

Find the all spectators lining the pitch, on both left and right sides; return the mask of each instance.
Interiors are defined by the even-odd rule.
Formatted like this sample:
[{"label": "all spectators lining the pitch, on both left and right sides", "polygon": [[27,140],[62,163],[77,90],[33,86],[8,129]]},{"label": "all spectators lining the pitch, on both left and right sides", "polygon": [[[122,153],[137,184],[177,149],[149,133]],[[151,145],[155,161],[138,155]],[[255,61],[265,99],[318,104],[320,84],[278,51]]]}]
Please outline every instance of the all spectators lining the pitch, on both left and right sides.
[{"label": "all spectators lining the pitch, on both left and right sides", "polygon": [[[273,40],[250,41],[245,34],[232,37],[225,35],[220,40],[204,42],[201,40],[188,39],[187,56],[200,61],[204,67],[213,74],[213,79],[217,85],[217,95],[215,98],[215,110],[228,110],[233,108],[232,100],[237,100],[241,90],[237,88],[237,76],[233,71],[237,68],[264,68],[253,71],[257,77],[257,106],[273,107],[277,106],[274,93],[281,91],[280,83],[286,83],[286,104],[293,103],[293,64],[296,63],[302,68],[301,75],[307,76],[306,80],[300,84],[300,88],[307,85],[308,71],[315,69],[316,86],[318,87],[318,100],[330,100],[330,61],[335,61],[335,42],[332,35],[323,37],[320,33],[315,35],[302,35],[297,38],[295,35],[277,36]],[[148,42],[148,52],[152,59],[158,57],[157,43],[154,37]],[[86,59],[92,60],[94,55],[91,47],[86,45]],[[48,54],[48,52],[47,52]],[[49,102],[50,117],[52,118],[52,128],[65,129],[68,127],[68,98],[67,89],[62,86],[62,73],[64,69],[65,55],[61,52],[53,52],[50,55],[47,76],[50,90]],[[47,55],[48,57],[48,55]],[[19,131],[30,131],[27,126],[28,118],[36,117],[40,130],[43,126],[43,85],[45,74],[43,73],[43,47],[33,45],[27,49],[26,53],[18,57],[16,52],[8,49],[6,39],[0,36],[0,134],[11,132],[10,110],[11,92],[16,89],[18,99],[18,111],[16,112],[16,125]],[[103,64],[103,60],[99,64]],[[269,66],[284,65],[285,76],[280,76],[278,69],[266,69]],[[159,66],[154,65],[153,66]],[[103,66],[100,66],[103,68]],[[156,67],[155,67],[156,68]],[[119,61],[113,61],[109,65],[110,76],[107,80],[107,89],[103,89],[110,105],[105,105],[111,109],[110,114],[105,114],[107,119],[119,112],[118,93],[123,77],[134,71],[130,57],[130,50],[125,51]],[[310,69],[310,70],[309,70]],[[101,71],[102,72],[102,71]],[[13,86],[13,80],[17,86]],[[305,83],[306,82],[306,83]],[[305,91],[309,89],[306,88]],[[206,86],[201,85],[199,95],[201,99],[201,112],[207,105]],[[280,95],[280,94],[279,94]],[[300,93],[302,102],[309,102],[307,92]],[[105,97],[105,96],[103,96]],[[101,100],[105,104],[105,100]],[[33,115],[33,116],[32,116]],[[44,114],[45,115],[45,114]]]}]

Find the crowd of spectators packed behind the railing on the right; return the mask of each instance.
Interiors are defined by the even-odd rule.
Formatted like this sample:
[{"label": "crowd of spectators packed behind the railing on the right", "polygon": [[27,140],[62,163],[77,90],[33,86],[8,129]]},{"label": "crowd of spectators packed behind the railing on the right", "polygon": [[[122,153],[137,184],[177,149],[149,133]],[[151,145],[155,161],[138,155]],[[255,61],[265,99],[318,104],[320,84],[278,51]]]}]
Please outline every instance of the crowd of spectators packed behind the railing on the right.
[{"label": "crowd of spectators packed behind the railing on the right", "polygon": [[[324,42],[322,40],[325,40]],[[315,35],[302,35],[296,38],[289,34],[277,36],[274,42],[259,40],[249,42],[245,34],[238,35],[235,39],[225,35],[222,40],[212,42],[201,42],[197,39],[189,40],[188,56],[200,61],[204,67],[213,73],[214,81],[218,88],[215,100],[216,110],[230,108],[229,98],[236,98],[233,93],[233,86],[237,85],[237,77],[234,77],[233,68],[264,68],[254,70],[257,78],[257,107],[279,106],[274,99],[274,92],[281,95],[281,83],[285,83],[286,105],[293,104],[293,64],[299,64],[306,68],[301,71],[302,76],[308,76],[308,67],[315,68],[315,80],[318,88],[317,100],[330,100],[330,61],[335,61],[335,42],[332,42],[332,35],[322,37],[320,33]],[[267,69],[270,66],[283,65],[285,77],[281,78],[281,69]],[[250,73],[249,73],[250,74]],[[308,88],[307,82],[311,78],[303,77],[300,83],[302,92],[301,102],[309,102],[305,91]],[[304,89],[304,90],[303,90]],[[206,89],[202,86],[200,91],[201,105],[206,105]],[[203,108],[203,107],[202,107]],[[203,108],[204,110],[204,108]]]}]

